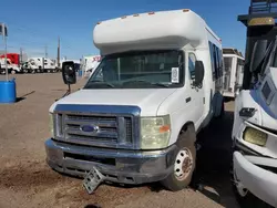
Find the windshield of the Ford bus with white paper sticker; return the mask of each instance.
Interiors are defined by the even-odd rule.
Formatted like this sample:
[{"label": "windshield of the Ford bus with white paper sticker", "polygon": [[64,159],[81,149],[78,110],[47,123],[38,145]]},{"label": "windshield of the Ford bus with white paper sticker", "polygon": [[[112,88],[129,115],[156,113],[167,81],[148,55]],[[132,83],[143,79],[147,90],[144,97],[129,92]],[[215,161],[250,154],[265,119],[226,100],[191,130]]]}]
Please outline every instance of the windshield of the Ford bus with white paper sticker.
[{"label": "windshield of the Ford bus with white paper sticker", "polygon": [[181,87],[184,84],[183,60],[183,53],[173,50],[107,55],[84,89]]}]

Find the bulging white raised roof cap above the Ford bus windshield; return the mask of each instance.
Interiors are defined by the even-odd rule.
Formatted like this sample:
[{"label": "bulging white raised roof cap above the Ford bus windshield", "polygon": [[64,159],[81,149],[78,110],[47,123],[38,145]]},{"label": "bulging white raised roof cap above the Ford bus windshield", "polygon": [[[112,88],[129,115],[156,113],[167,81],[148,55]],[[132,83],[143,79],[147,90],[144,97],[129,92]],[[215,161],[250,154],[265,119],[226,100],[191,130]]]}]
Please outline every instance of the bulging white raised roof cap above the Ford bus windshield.
[{"label": "bulging white raised roof cap above the Ford bus windshield", "polygon": [[93,41],[102,55],[130,50],[182,49],[188,43],[198,48],[205,44],[207,31],[220,41],[191,10],[160,11],[99,22]]}]

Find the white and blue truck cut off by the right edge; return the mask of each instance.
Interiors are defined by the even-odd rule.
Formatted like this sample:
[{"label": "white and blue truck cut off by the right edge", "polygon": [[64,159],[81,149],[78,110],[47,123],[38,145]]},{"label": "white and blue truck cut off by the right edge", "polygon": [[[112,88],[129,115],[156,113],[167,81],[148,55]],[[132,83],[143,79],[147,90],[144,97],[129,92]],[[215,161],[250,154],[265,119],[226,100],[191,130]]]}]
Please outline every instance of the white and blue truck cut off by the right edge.
[{"label": "white and blue truck cut off by the right edge", "polygon": [[253,205],[253,195],[277,207],[276,19],[275,0],[252,0],[249,13],[238,17],[247,27],[247,44],[235,102],[233,181],[245,207]]}]

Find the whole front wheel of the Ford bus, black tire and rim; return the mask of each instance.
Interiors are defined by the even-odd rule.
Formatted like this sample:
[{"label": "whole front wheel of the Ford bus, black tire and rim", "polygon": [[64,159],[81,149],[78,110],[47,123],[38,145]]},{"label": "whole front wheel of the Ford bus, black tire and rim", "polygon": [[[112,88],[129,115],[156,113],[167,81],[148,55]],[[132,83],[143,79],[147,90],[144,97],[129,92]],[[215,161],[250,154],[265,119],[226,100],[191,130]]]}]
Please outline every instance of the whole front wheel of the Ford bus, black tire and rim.
[{"label": "whole front wheel of the Ford bus, black tire and rim", "polygon": [[196,164],[195,141],[196,133],[193,126],[188,126],[179,134],[173,173],[162,181],[165,188],[178,191],[191,184]]}]

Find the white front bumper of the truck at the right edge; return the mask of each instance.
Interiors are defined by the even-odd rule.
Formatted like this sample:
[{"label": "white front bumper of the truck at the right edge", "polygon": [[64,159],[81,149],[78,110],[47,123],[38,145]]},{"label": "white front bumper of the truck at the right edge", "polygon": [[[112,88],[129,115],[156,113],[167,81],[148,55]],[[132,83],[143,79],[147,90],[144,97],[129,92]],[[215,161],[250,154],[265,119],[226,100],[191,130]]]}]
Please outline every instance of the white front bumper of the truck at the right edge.
[{"label": "white front bumper of the truck at the right edge", "polygon": [[256,197],[277,207],[277,174],[255,164],[277,169],[277,159],[234,153],[234,171],[239,183]]}]

